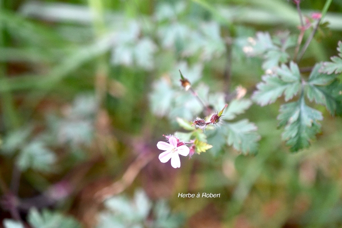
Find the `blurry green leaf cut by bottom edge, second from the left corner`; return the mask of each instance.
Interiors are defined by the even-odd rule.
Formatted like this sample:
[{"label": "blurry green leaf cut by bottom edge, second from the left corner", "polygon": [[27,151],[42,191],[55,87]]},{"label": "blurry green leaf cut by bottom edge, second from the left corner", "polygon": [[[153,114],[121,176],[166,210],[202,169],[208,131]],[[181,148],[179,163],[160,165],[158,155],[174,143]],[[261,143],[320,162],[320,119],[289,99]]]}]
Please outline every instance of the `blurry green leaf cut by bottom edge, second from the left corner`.
[{"label": "blurry green leaf cut by bottom edge, second from the left corner", "polygon": [[41,213],[35,208],[30,209],[27,220],[33,228],[81,228],[73,217],[47,209],[43,209]]}]

